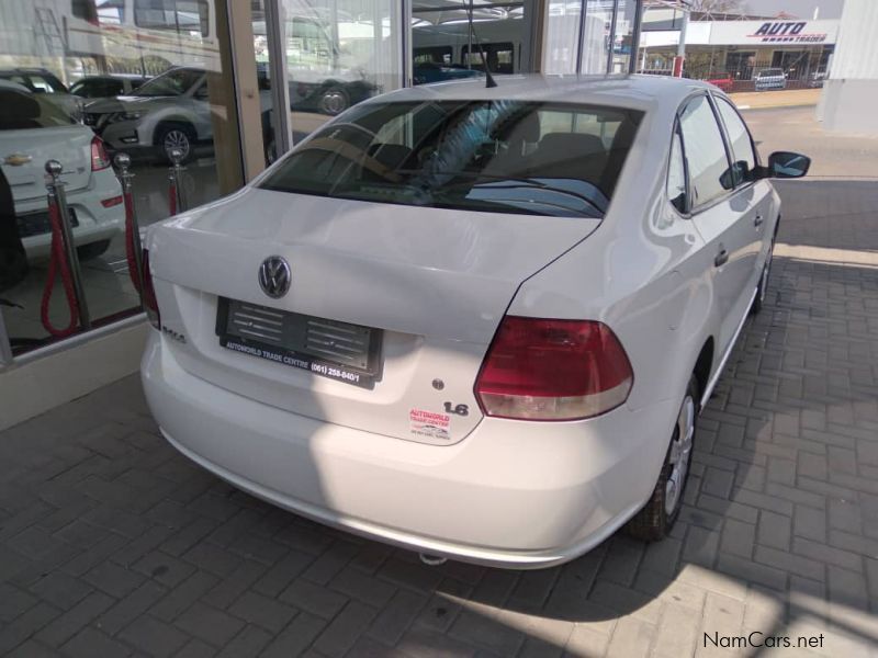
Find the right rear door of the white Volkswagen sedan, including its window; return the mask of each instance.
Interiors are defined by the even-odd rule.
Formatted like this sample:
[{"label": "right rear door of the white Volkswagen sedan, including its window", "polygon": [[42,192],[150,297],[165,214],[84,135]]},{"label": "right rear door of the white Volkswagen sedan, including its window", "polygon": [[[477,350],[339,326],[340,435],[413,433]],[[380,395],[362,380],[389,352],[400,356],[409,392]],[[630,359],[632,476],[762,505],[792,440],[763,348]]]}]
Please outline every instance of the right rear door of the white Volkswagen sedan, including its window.
[{"label": "right rear door of the white Volkswagen sedan, including its window", "polygon": [[[751,205],[734,193],[725,139],[707,92],[694,95],[679,113],[691,195],[691,217],[712,260],[714,304],[721,316],[724,352],[743,315],[752,268]],[[722,352],[721,352],[722,353]]]}]

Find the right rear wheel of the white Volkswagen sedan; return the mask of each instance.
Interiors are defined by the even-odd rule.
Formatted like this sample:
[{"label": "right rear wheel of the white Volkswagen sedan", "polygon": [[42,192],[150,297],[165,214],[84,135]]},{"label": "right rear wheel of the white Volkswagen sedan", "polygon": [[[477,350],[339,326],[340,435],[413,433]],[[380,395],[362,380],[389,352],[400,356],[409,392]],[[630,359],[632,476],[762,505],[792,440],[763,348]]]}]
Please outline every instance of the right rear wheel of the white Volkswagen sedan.
[{"label": "right rear wheel of the white Volkswagen sedan", "polygon": [[[684,417],[686,418],[685,424],[690,428],[690,432],[682,428]],[[683,507],[686,483],[691,470],[697,427],[698,381],[693,376],[689,378],[686,395],[680,402],[677,422],[671,435],[671,445],[667,449],[665,462],[662,464],[658,481],[655,483],[655,488],[646,504],[634,514],[626,526],[628,534],[632,537],[644,542],[657,542],[667,536],[674,526]],[[689,439],[680,440],[683,433],[689,434]],[[685,468],[678,470],[683,464],[685,464]]]}]

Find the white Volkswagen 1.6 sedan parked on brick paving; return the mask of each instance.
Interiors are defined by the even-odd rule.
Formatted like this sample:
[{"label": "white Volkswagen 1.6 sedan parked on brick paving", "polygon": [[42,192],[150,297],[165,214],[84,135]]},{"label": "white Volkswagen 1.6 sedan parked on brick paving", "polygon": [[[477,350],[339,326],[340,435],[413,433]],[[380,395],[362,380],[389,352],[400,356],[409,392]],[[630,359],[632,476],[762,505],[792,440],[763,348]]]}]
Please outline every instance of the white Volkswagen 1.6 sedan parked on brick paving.
[{"label": "white Volkswagen 1.6 sedan parked on brick paving", "polygon": [[165,436],[319,522],[545,567],[677,518],[697,418],[780,214],[728,98],[506,78],[356,105],[151,228],[142,373]]}]

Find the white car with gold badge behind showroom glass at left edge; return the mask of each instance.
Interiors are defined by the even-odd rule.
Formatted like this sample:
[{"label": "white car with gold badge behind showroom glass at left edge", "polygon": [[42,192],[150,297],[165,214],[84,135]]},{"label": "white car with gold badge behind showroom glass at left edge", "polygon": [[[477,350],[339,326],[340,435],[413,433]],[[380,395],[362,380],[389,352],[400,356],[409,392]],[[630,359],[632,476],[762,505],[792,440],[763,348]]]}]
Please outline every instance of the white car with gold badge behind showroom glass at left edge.
[{"label": "white car with gold badge behind showroom glass at left edge", "polygon": [[15,204],[29,259],[48,256],[52,243],[44,166],[64,167],[70,222],[81,258],[95,258],[124,226],[122,188],[103,143],[47,94],[0,86],[0,166]]}]

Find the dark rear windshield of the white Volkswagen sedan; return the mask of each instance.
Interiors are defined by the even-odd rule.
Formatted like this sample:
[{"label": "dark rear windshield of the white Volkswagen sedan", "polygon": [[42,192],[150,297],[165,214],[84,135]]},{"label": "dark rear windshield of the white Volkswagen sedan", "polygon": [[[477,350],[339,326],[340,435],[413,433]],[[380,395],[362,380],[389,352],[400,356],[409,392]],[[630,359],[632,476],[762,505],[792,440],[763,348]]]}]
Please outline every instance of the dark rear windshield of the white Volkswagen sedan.
[{"label": "dark rear windshield of the white Volkswagen sedan", "polygon": [[413,206],[603,217],[642,113],[528,101],[364,103],[261,188]]}]

